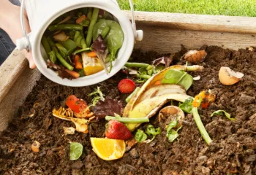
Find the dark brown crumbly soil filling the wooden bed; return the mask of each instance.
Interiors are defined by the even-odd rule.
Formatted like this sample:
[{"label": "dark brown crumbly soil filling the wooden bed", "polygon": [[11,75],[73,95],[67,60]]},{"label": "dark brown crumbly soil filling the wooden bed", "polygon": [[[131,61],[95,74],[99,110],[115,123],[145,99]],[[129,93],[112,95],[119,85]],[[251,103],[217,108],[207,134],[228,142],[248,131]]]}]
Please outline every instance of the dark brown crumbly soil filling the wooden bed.
[{"label": "dark brown crumbly soil filling the wooden bed", "polygon": [[[119,160],[101,160],[92,151],[89,138],[102,137],[106,121],[91,123],[89,133],[65,136],[63,127],[75,125],[53,117],[52,110],[72,94],[90,102],[91,97],[87,95],[97,86],[106,97],[121,100],[125,106],[127,95],[119,93],[117,85],[126,75],[118,73],[105,82],[85,88],[57,85],[42,77],[20,106],[19,115],[0,133],[0,174],[256,174],[256,52],[215,46],[202,48],[208,53],[206,60],[199,63],[205,69],[192,73],[201,79],[193,82],[187,93],[195,96],[201,90],[211,89],[217,96],[209,109],[199,111],[214,140],[210,146],[200,135],[192,115],[187,114],[178,140],[173,143],[162,133],[150,144],[136,144]],[[186,51],[182,48],[176,53],[173,63],[185,63],[180,58]],[[160,56],[135,50],[132,61],[151,63]],[[222,85],[218,78],[221,66],[241,71],[243,79],[236,85]],[[218,109],[229,112],[236,120],[210,117]],[[29,117],[31,114],[34,116]],[[159,125],[157,117],[152,117],[150,123],[155,127]],[[147,125],[140,125],[140,129]],[[35,140],[41,144],[38,153],[31,151]],[[83,155],[78,160],[69,160],[69,141],[83,144]]]}]

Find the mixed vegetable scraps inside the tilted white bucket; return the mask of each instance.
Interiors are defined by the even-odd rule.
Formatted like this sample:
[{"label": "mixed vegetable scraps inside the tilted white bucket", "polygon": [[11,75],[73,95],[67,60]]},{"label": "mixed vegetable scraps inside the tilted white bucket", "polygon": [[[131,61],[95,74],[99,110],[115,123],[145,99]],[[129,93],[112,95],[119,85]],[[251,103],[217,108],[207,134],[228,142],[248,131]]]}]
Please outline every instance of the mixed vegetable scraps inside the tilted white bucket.
[{"label": "mixed vegetable scraps inside the tilted white bucket", "polygon": [[48,26],[42,45],[48,55],[48,68],[59,77],[77,79],[103,69],[107,74],[111,71],[124,33],[112,15],[101,16],[101,11],[106,13],[89,7],[79,13],[72,10]]}]

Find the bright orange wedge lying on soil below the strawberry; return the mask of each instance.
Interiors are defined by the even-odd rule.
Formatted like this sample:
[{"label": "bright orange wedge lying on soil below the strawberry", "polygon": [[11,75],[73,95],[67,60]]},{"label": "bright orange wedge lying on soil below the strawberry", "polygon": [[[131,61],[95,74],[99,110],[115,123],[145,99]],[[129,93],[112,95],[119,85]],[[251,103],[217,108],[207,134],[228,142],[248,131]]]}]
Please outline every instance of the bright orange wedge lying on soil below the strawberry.
[{"label": "bright orange wedge lying on soil below the strawberry", "polygon": [[91,146],[97,156],[103,160],[122,158],[125,152],[124,140],[91,137]]}]

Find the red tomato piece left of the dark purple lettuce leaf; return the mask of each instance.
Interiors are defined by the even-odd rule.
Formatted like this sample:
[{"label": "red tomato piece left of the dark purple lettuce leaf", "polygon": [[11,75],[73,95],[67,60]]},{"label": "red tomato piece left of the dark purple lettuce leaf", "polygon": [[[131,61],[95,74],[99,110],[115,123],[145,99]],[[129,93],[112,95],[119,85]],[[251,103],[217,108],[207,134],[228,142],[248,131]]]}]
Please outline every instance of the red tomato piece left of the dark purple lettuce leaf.
[{"label": "red tomato piece left of the dark purple lettuce leaf", "polygon": [[76,96],[72,95],[67,98],[67,106],[69,106],[72,111],[79,113],[83,109],[86,109],[87,104],[83,99],[79,99]]}]

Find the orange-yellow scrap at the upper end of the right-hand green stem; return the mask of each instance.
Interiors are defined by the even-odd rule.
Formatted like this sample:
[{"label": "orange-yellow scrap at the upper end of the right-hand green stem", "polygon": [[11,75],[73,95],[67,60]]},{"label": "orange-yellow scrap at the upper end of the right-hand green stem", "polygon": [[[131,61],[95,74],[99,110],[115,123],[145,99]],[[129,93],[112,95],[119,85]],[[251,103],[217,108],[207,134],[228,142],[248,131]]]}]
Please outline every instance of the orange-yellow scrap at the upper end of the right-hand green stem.
[{"label": "orange-yellow scrap at the upper end of the right-hand green stem", "polygon": [[197,96],[195,96],[195,100],[193,101],[194,107],[200,107],[202,109],[207,109],[211,103],[213,103],[216,99],[216,96],[211,93],[211,90],[203,90]]}]

